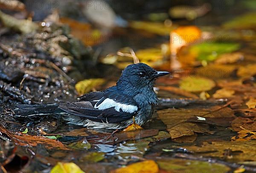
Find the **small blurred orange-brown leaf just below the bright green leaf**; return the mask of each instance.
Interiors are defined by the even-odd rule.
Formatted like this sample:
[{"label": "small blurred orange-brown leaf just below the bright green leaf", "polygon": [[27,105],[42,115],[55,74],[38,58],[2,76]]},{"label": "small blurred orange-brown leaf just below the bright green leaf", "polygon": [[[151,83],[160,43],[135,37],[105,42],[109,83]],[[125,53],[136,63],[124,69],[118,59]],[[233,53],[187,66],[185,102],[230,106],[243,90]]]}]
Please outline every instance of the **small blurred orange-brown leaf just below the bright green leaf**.
[{"label": "small blurred orange-brown leaf just below the bright green leaf", "polygon": [[227,53],[221,54],[217,60],[215,60],[216,64],[232,64],[239,60],[243,60],[244,55],[241,52]]}]

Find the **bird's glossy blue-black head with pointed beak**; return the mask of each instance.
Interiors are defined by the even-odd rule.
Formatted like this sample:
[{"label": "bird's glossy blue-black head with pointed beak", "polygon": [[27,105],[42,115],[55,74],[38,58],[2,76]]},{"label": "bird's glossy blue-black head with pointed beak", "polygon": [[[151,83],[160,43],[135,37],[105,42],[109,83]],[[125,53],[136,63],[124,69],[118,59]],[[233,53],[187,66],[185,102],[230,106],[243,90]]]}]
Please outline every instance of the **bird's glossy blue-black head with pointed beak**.
[{"label": "bird's glossy blue-black head with pointed beak", "polygon": [[169,74],[166,71],[156,71],[154,68],[144,64],[137,63],[128,65],[116,83],[116,86],[130,89],[131,91],[140,90],[141,88],[152,88],[157,77]]}]

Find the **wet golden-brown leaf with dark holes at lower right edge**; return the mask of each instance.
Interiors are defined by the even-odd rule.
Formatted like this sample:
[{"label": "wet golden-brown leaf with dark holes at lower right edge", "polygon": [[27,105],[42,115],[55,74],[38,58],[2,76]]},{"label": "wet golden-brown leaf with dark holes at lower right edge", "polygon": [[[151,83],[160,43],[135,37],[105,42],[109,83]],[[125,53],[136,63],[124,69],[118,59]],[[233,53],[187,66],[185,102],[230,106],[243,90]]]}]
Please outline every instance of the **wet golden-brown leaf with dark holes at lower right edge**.
[{"label": "wet golden-brown leaf with dark holes at lower right edge", "polygon": [[186,146],[187,150],[205,157],[218,157],[230,162],[256,161],[256,140],[250,141],[218,141],[201,147]]}]

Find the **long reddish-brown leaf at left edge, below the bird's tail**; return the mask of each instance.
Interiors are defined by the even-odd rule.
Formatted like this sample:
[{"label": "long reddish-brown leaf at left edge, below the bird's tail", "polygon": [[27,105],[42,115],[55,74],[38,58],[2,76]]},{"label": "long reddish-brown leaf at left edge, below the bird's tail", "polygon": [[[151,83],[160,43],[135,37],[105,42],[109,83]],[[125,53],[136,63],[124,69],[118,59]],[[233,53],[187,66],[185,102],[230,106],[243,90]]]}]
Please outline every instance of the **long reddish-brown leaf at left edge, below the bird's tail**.
[{"label": "long reddish-brown leaf at left edge, below the bird's tail", "polygon": [[13,133],[3,126],[0,126],[0,132],[6,133],[17,145],[35,147],[38,144],[43,144],[46,148],[58,148],[59,150],[69,150],[61,142],[55,139],[49,139],[44,136],[31,136],[23,133]]}]

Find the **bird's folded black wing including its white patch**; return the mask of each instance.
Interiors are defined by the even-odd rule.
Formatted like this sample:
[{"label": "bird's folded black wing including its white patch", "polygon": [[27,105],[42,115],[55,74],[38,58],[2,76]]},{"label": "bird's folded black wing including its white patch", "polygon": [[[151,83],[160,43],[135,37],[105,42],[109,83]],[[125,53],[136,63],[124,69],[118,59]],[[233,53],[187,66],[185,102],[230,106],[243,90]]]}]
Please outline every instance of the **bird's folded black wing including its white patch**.
[{"label": "bird's folded black wing including its white patch", "polygon": [[105,93],[93,106],[91,102],[73,102],[59,106],[62,110],[96,122],[118,123],[131,119],[137,113],[134,99],[118,93]]}]

